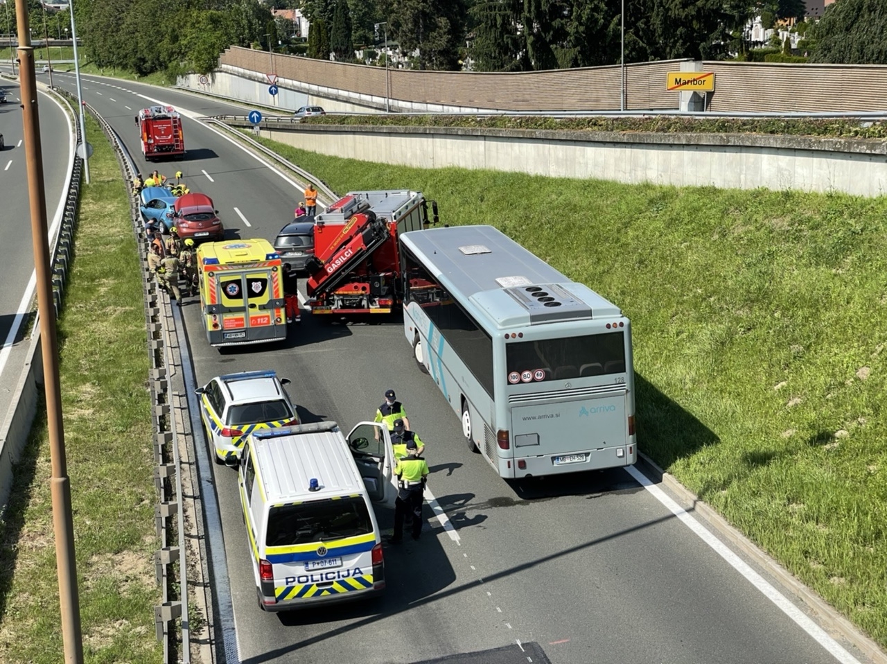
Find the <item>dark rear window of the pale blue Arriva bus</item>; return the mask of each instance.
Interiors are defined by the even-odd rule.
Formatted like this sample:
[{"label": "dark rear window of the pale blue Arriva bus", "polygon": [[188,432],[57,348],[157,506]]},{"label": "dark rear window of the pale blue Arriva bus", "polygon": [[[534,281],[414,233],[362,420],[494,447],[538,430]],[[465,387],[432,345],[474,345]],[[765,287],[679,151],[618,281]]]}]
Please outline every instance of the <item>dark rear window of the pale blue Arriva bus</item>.
[{"label": "dark rear window of the pale blue Arriva bus", "polygon": [[[625,373],[624,332],[506,344],[510,383]],[[515,380],[514,374],[517,374]]]}]

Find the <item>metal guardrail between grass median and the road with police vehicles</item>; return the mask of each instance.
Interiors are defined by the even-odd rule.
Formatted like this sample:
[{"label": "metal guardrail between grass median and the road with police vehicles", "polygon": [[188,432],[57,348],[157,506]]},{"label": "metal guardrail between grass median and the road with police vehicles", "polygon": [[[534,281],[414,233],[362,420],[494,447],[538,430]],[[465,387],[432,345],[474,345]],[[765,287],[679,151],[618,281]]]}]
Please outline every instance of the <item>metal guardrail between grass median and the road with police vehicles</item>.
[{"label": "metal guardrail between grass median and the road with police vehicles", "polygon": [[[66,92],[67,94],[67,92]],[[83,107],[92,115],[120,163],[125,186],[135,177],[137,170],[126,147],[106,120],[89,104]],[[161,548],[154,553],[157,583],[161,586],[161,605],[154,607],[154,626],[157,639],[163,644],[163,662],[191,662],[191,634],[188,619],[188,580],[186,548],[184,545],[184,510],[182,492],[182,468],[179,456],[179,422],[182,419],[180,397],[172,388],[172,373],[180,372],[177,358],[177,336],[169,298],[161,296],[157,282],[147,265],[149,239],[141,223],[137,199],[130,196],[130,218],[136,233],[142,264],[145,301],[145,326],[148,340],[147,351],[151,362],[150,391],[154,425],[154,485],[159,502],[154,505],[154,521]],[[172,542],[175,541],[175,544]],[[170,623],[177,621],[179,629]],[[181,634],[181,644],[178,635]]]}]

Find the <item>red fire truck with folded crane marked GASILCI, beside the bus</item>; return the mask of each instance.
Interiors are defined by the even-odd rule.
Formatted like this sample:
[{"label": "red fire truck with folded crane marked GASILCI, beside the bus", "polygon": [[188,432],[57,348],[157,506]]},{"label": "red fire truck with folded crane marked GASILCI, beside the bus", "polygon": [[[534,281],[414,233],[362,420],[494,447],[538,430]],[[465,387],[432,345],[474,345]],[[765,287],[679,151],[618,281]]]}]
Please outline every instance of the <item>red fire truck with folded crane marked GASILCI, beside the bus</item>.
[{"label": "red fire truck with folded crane marked GASILCI, beside the bus", "polygon": [[437,223],[420,192],[350,192],[314,219],[308,304],[315,314],[390,313],[401,304],[398,233]]}]

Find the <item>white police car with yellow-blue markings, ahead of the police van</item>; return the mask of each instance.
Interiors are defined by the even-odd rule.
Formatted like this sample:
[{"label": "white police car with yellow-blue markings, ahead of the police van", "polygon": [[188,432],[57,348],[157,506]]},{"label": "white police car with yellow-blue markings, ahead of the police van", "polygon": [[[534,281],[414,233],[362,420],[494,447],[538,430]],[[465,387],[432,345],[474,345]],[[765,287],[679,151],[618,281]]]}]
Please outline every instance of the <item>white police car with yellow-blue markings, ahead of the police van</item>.
[{"label": "white police car with yellow-blue markings, ahead of the police van", "polygon": [[273,371],[217,375],[196,390],[200,419],[216,463],[236,464],[253,431],[299,423],[284,385]]}]

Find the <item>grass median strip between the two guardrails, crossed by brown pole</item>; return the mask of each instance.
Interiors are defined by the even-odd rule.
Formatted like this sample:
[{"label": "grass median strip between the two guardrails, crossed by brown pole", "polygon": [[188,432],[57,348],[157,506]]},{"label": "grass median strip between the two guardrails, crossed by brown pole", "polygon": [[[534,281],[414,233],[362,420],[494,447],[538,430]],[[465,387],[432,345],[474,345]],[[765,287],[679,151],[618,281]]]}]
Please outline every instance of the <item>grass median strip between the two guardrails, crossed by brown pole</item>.
[{"label": "grass median strip between the two guardrails, crossed by brown pole", "polygon": [[[88,133],[101,135],[87,117]],[[153,605],[153,452],[145,313],[130,206],[111,146],[94,142],[59,319],[83,646],[90,662],[160,661]],[[0,661],[61,660],[49,488],[38,415],[0,522]]]}]

